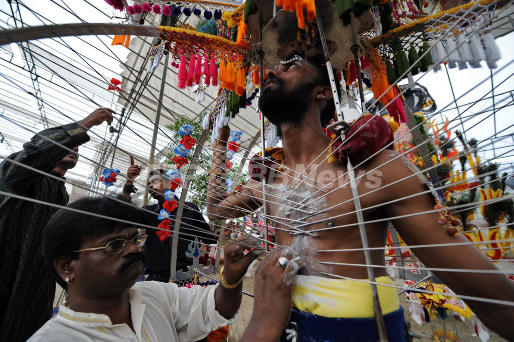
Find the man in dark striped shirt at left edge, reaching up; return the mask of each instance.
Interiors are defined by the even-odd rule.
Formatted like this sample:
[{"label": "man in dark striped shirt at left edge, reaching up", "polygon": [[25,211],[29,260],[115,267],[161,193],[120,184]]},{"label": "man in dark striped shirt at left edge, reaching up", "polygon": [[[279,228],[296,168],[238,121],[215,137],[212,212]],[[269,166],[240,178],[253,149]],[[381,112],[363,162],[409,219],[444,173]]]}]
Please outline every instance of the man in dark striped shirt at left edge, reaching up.
[{"label": "man in dark striped shirt at left edge, reaching up", "polygon": [[0,341],[24,342],[52,316],[56,282],[42,256],[43,227],[69,200],[64,175],[79,160],[87,131],[113,121],[99,108],[86,118],[35,134],[0,164]]}]

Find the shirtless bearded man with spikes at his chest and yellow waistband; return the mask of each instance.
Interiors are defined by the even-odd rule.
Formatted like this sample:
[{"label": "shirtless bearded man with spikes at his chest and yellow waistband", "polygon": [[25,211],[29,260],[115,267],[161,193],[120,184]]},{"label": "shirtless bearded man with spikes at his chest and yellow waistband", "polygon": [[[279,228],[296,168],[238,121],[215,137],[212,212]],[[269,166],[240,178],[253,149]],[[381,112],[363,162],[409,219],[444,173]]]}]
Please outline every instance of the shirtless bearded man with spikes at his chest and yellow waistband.
[{"label": "shirtless bearded man with spikes at his chest and yellow waistband", "polygon": [[[302,322],[300,340],[302,336],[303,340],[334,340],[332,336],[339,336],[339,340],[351,331],[355,334],[348,340],[376,340],[370,286],[351,280],[367,279],[368,274],[366,267],[354,266],[366,262],[358,249],[362,242],[351,186],[347,177],[338,179],[346,173],[346,164],[329,163],[326,158],[332,141],[322,127],[334,115],[329,84],[324,65],[299,56],[266,71],[259,105],[282,134],[283,149],[272,151],[270,157],[278,163],[284,161],[279,172],[266,177],[267,209],[278,223],[277,242],[293,247],[306,262],[293,285],[291,320]],[[211,219],[241,217],[263,204],[262,183],[254,179],[240,193],[226,199],[222,195],[226,193],[222,178],[229,132],[223,128],[213,146],[207,206]],[[474,246],[455,245],[468,240],[449,234],[437,223],[438,213],[430,212],[434,197],[423,179],[413,175],[414,170],[406,158],[390,150],[377,153],[355,169],[356,174],[364,174],[357,188],[369,245],[380,247],[371,250],[372,263],[384,265],[383,247],[391,221],[407,244],[438,246],[414,249],[427,267],[497,269]],[[300,206],[300,202],[308,205]],[[323,228],[329,229],[320,230]],[[459,295],[514,302],[514,284],[502,274],[447,271],[436,275]],[[385,276],[385,268],[375,268],[378,283],[392,284]],[[378,293],[389,341],[405,340],[396,290],[379,285]],[[512,305],[477,300],[466,303],[490,329],[514,340]],[[311,334],[308,321],[313,317],[317,326]],[[329,334],[324,335],[325,331]]]}]

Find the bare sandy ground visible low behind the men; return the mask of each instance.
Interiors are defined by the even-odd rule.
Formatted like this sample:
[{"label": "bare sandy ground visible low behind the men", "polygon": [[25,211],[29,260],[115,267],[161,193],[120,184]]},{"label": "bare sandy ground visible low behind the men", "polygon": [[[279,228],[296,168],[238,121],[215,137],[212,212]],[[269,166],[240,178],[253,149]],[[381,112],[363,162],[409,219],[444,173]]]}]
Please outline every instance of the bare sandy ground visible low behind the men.
[{"label": "bare sandy ground visible low behind the men", "polygon": [[[200,279],[203,281],[203,279]],[[251,273],[251,277],[245,278],[243,281],[243,290],[253,294],[253,283],[255,281],[255,273]],[[397,281],[397,284],[401,284],[401,282]],[[58,298],[61,295],[62,288],[57,285],[56,289],[56,299],[54,300],[54,305],[58,303]],[[405,312],[406,319],[411,322],[411,329],[421,336],[420,339],[414,338],[413,341],[419,342],[432,342],[433,331],[438,329],[444,329],[444,322],[442,319],[434,319],[430,323],[423,323],[423,325],[418,326],[417,323],[411,319],[411,314],[409,313],[407,301],[405,295],[400,295],[400,304],[403,307],[403,311]],[[240,317],[237,321],[230,327],[229,336],[227,342],[236,342],[238,341],[243,333],[245,332],[245,328],[250,321],[253,311],[253,298],[243,294],[243,310],[241,312]],[[480,338],[475,335],[473,328],[471,327],[470,321],[461,321],[458,319],[446,320],[446,329],[454,333],[458,337],[458,342],[481,342]],[[490,342],[506,342],[507,340],[500,337],[498,334],[489,330],[489,341]],[[448,340],[448,342],[453,342]]]}]

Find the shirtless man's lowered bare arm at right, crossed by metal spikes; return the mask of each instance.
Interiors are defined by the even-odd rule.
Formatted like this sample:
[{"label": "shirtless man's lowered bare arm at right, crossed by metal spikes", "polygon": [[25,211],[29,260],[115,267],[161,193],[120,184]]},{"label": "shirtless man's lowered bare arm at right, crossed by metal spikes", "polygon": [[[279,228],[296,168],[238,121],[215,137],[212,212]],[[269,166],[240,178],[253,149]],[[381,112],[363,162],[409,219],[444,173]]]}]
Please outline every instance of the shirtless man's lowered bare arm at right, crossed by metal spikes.
[{"label": "shirtless man's lowered bare arm at right, crossed by metal spikes", "polygon": [[[416,168],[407,160],[397,160],[384,169],[384,181],[392,183],[395,179],[409,177],[405,181],[388,187],[390,200],[400,199],[427,190],[418,176],[412,176]],[[394,173],[393,173],[394,172]],[[392,220],[393,225],[408,245],[436,245],[437,247],[413,248],[414,254],[427,266],[449,268],[454,271],[434,272],[457,295],[485,298],[486,301],[465,299],[471,310],[479,316],[491,330],[508,340],[514,340],[514,306],[491,303],[487,299],[505,300],[514,304],[514,284],[503,274],[480,273],[476,270],[497,271],[475,246],[457,245],[469,242],[462,234],[452,236],[447,227],[438,224],[437,212],[417,214],[434,209],[434,197],[429,194],[418,195],[406,200],[395,201],[388,206],[390,217],[407,215]],[[448,246],[446,246],[448,245]],[[462,272],[470,269],[474,272]]]}]

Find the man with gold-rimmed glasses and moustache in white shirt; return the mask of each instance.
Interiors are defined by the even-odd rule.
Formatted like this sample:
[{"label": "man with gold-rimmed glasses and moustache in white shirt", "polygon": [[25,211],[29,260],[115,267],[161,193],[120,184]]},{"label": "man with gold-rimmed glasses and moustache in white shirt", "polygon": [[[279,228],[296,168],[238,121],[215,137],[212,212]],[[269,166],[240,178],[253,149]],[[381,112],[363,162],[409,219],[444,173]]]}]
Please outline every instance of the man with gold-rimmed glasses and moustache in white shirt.
[{"label": "man with gold-rimmed glasses and moustache in white shirt", "polygon": [[[252,249],[259,243],[243,237],[227,244],[217,285],[137,282],[146,239],[138,224],[138,209],[110,197],[85,197],[53,215],[44,231],[44,255],[68,297],[29,341],[191,341],[235,321],[241,279],[262,255],[261,248]],[[261,263],[252,319],[241,341],[278,340],[300,262],[289,259],[289,251],[276,250]]]}]

